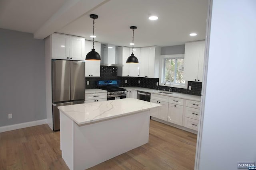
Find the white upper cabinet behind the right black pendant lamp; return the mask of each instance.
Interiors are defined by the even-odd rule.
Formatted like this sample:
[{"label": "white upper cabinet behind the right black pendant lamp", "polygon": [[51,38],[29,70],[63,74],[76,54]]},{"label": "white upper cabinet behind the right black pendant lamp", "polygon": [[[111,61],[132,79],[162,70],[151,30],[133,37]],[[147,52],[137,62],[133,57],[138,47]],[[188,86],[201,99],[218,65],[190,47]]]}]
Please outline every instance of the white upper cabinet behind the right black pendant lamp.
[{"label": "white upper cabinet behind the right black pendant lamp", "polygon": [[137,57],[139,63],[126,63],[127,58],[132,54],[130,47],[117,47],[118,64],[123,64],[118,70],[118,76],[138,77],[140,69],[140,48],[134,48],[134,56]]}]

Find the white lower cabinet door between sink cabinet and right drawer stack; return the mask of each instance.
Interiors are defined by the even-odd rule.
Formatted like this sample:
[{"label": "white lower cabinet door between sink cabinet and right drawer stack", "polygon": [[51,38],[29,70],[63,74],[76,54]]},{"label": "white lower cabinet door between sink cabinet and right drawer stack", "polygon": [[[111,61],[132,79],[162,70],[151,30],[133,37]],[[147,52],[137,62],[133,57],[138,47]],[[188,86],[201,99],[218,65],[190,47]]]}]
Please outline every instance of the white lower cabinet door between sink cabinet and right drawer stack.
[{"label": "white lower cabinet door between sink cabinet and right drawer stack", "polygon": [[169,103],[168,121],[176,125],[182,125],[183,106]]}]

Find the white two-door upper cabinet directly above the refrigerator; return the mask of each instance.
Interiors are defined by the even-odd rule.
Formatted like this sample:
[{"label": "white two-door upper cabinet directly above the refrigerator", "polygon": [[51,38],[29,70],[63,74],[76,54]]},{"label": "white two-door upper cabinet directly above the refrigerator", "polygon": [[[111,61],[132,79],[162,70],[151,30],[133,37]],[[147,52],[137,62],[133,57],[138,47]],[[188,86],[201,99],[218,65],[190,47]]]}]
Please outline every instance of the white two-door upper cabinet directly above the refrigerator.
[{"label": "white two-door upper cabinet directly above the refrigerator", "polygon": [[52,34],[52,59],[84,61],[84,38]]}]

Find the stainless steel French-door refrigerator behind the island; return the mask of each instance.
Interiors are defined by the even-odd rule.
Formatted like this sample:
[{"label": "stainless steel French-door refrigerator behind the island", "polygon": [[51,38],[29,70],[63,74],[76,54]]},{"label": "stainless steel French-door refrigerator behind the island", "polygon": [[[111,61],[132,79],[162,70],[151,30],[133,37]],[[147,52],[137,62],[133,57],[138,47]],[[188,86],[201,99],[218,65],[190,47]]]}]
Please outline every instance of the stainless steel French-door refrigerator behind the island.
[{"label": "stainless steel French-door refrigerator behind the island", "polygon": [[58,106],[85,101],[85,62],[52,59],[53,130],[60,129]]}]

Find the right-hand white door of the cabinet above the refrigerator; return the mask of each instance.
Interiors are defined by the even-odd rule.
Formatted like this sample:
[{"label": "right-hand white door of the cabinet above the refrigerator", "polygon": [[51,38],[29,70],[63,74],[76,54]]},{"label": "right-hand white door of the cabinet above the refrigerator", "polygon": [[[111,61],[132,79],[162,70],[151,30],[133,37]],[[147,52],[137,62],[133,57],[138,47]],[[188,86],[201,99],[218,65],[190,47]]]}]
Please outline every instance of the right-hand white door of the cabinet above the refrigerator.
[{"label": "right-hand white door of the cabinet above the refrigerator", "polygon": [[84,61],[84,38],[69,37],[69,57],[72,60]]}]

